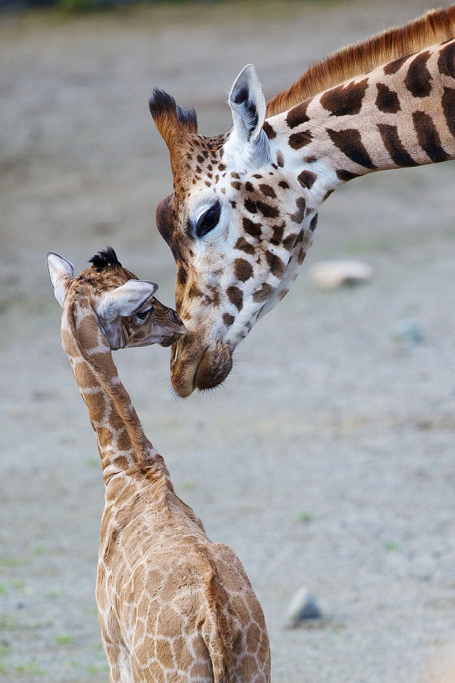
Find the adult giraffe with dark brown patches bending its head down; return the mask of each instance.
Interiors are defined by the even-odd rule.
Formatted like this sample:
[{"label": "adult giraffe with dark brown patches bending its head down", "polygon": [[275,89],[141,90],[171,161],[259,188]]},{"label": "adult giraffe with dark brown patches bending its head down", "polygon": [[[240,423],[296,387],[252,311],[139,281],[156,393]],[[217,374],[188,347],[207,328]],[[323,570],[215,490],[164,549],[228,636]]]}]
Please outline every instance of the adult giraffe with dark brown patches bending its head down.
[{"label": "adult giraffe with dark brown patches bending its head down", "polygon": [[295,280],[331,192],[455,158],[455,5],[340,50],[267,105],[248,65],[228,102],[233,127],[210,138],[194,110],[159,90],[150,99],[174,177],[156,223],[188,331],[172,348],[180,396],[227,377],[237,344]]}]

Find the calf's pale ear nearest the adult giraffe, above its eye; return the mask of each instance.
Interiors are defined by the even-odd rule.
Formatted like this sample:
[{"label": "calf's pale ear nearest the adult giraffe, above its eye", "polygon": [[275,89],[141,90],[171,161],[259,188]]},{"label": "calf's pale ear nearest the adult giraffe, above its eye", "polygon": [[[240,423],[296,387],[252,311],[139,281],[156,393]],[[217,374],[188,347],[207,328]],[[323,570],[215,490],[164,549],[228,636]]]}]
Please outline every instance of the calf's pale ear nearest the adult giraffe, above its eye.
[{"label": "calf's pale ear nearest the adult giraffe, above its eye", "polygon": [[158,285],[145,280],[128,280],[102,295],[95,311],[103,322],[115,320],[119,315],[133,315],[148,299],[151,299]]}]

